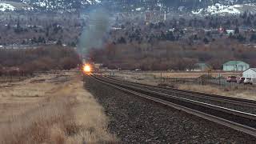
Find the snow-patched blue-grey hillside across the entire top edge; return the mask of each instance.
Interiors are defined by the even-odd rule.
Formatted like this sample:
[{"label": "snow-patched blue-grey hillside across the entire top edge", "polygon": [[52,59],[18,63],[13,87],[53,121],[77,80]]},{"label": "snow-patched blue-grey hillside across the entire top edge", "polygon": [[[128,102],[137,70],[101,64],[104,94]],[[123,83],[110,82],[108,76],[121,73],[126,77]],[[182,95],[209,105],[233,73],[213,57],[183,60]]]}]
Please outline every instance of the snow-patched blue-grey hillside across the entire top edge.
[{"label": "snow-patched blue-grey hillside across the entire top edge", "polygon": [[[189,14],[242,14],[256,12],[256,0],[10,0],[0,2],[0,10],[84,10],[88,6],[106,6],[114,11],[165,10]],[[29,6],[27,6],[29,5]]]}]

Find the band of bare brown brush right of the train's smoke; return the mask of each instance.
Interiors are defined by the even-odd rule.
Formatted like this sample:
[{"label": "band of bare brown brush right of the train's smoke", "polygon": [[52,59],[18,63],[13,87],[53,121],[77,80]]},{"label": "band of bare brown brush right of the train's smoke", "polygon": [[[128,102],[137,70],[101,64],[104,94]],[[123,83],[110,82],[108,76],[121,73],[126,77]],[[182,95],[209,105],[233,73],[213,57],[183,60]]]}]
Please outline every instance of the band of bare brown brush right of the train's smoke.
[{"label": "band of bare brown brush right of the train's smoke", "polygon": [[224,62],[238,59],[256,66],[256,50],[232,40],[219,40],[209,45],[182,42],[110,44],[103,50],[91,50],[90,57],[109,69],[193,70],[197,62],[206,62],[215,70]]}]

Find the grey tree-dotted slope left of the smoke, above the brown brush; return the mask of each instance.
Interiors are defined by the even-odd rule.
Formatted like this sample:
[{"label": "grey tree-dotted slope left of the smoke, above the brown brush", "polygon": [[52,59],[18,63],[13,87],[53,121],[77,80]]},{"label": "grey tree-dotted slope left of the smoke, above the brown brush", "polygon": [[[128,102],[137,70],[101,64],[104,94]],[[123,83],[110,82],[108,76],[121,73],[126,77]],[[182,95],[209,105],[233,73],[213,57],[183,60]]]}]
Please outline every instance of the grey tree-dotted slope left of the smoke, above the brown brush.
[{"label": "grey tree-dotted slope left of the smoke, above the brown brush", "polygon": [[79,14],[3,13],[0,22],[0,46],[38,45],[62,42],[75,46],[82,30]]}]

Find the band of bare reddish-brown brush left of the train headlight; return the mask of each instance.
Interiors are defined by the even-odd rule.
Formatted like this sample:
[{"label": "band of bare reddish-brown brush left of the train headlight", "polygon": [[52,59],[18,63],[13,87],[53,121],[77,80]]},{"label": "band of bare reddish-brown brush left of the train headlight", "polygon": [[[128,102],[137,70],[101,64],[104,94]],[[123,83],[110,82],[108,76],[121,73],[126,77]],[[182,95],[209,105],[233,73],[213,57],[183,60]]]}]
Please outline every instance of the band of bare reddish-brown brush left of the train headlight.
[{"label": "band of bare reddish-brown brush left of the train headlight", "polygon": [[80,63],[76,51],[69,47],[0,50],[0,75],[32,74],[38,70],[70,70]]}]

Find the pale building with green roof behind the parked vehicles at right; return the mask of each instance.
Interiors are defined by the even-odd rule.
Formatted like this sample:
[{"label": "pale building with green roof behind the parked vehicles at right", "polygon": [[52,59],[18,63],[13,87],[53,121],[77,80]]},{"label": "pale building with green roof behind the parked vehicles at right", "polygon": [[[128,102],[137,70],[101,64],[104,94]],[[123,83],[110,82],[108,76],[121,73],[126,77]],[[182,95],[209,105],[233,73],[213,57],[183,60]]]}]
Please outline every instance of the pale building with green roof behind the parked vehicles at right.
[{"label": "pale building with green roof behind the parked vehicles at right", "polygon": [[242,61],[229,61],[223,64],[224,71],[244,71],[250,68],[250,65]]}]

